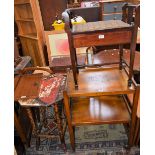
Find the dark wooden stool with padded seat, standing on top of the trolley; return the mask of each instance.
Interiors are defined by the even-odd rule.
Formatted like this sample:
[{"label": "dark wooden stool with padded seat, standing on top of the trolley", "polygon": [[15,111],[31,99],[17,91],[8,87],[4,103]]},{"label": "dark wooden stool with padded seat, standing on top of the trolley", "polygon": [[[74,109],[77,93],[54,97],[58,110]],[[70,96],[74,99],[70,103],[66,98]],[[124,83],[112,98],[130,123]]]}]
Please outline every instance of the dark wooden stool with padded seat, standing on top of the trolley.
[{"label": "dark wooden stool with padded seat, standing on top of the trolley", "polygon": [[[66,14],[64,16],[67,18]],[[72,25],[72,29],[70,29],[67,24],[69,25],[69,23],[66,22],[66,31],[68,33],[70,44],[70,54],[75,86],[78,86],[77,73],[79,72],[75,48],[118,44],[120,45],[119,67],[122,69],[123,44],[127,43],[130,44],[128,85],[131,85],[137,38],[137,29],[134,26],[124,23],[120,20],[88,22],[86,24]]]}]

